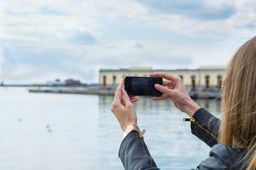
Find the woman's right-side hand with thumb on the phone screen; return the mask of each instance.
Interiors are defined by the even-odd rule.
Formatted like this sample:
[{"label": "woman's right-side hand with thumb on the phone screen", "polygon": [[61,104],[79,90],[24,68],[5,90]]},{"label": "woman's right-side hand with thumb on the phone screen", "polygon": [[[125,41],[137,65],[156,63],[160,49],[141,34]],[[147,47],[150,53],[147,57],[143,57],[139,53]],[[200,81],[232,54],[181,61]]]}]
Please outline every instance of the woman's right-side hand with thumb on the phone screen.
[{"label": "woman's right-side hand with thumb on the phone screen", "polygon": [[152,101],[160,101],[170,98],[180,111],[187,113],[191,118],[200,108],[200,106],[190,98],[180,77],[175,77],[166,73],[153,73],[150,74],[150,77],[162,77],[167,79],[163,81],[163,86],[155,84],[155,89],[161,91],[163,95],[151,98]]}]

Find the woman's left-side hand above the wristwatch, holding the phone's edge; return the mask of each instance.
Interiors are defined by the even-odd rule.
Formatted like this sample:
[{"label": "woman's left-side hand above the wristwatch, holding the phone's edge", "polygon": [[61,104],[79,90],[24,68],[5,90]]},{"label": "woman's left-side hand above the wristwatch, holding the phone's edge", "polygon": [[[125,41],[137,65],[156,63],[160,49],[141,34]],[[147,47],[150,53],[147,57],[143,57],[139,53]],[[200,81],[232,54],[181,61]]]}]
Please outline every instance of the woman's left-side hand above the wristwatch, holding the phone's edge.
[{"label": "woman's left-side hand above the wristwatch, holding the phone's edge", "polygon": [[123,90],[123,79],[116,89],[116,94],[113,99],[111,111],[116,116],[123,131],[126,130],[130,123],[137,125],[137,115],[133,103],[138,101],[138,97],[130,97]]}]

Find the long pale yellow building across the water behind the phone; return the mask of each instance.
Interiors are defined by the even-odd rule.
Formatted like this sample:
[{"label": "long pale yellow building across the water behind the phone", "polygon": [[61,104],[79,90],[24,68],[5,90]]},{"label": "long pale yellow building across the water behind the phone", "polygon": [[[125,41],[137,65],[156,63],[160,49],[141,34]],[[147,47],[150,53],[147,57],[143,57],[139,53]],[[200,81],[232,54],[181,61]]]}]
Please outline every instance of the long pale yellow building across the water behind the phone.
[{"label": "long pale yellow building across the water behind the phone", "polygon": [[125,76],[148,77],[148,74],[165,72],[181,77],[185,86],[193,90],[221,88],[226,66],[200,67],[199,69],[152,69],[151,67],[132,67],[130,69],[101,69],[99,83],[103,86],[116,85]]}]

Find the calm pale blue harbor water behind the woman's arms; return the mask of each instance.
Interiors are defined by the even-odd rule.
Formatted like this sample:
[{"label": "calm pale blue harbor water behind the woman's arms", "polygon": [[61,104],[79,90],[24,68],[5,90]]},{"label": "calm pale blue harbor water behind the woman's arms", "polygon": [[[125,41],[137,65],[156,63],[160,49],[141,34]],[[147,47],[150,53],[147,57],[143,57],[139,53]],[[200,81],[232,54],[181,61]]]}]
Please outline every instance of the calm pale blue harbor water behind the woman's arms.
[{"label": "calm pale blue harbor water behind the woman's arms", "polygon": [[[0,169],[123,169],[123,132],[111,113],[112,96],[29,94],[0,88]],[[220,102],[199,100],[220,116]],[[210,147],[190,132],[170,101],[140,98],[138,125],[160,169],[194,169]]]}]

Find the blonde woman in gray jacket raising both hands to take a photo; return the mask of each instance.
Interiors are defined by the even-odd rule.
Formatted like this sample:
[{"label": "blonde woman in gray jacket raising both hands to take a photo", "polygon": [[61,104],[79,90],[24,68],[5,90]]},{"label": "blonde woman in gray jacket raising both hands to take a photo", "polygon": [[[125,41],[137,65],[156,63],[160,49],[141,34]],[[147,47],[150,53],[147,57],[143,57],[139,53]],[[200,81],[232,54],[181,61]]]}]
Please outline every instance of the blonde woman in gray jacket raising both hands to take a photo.
[{"label": "blonde woman in gray jacket raising both hands to take a photo", "polygon": [[[228,64],[223,84],[221,121],[200,108],[187,93],[182,79],[165,73],[163,86],[155,84],[161,97],[191,117],[191,132],[211,148],[210,157],[196,169],[256,169],[256,37],[245,42]],[[123,90],[123,79],[116,89],[111,111],[124,131],[119,157],[125,169],[158,169],[137,126],[133,102]],[[170,151],[171,152],[171,151]]]}]

